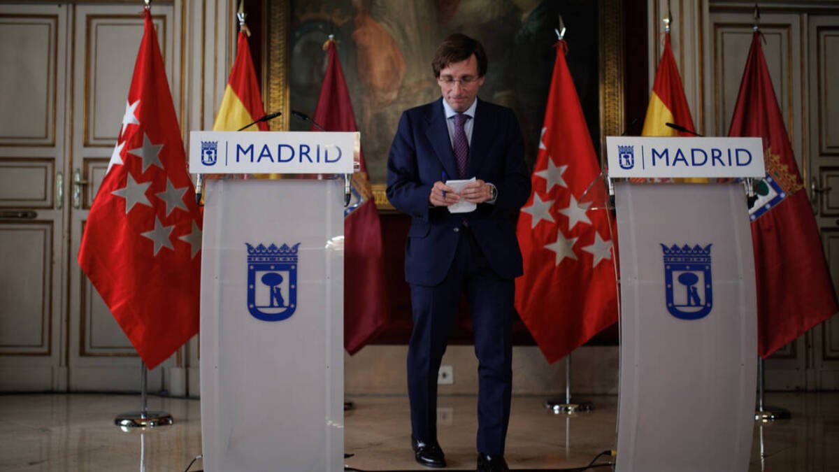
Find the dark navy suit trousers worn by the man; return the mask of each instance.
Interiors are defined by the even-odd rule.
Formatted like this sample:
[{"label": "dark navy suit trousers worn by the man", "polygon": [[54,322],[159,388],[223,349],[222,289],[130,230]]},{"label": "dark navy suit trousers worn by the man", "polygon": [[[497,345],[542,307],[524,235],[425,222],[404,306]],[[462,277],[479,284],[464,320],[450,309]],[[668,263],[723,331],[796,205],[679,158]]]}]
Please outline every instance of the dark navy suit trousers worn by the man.
[{"label": "dark navy suit trousers worn by the man", "polygon": [[472,231],[463,226],[454,261],[438,286],[411,286],[414,330],[408,348],[408,393],[414,438],[437,436],[437,371],[446,353],[461,294],[472,312],[478,359],[477,450],[504,453],[513,391],[513,279],[488,265]]}]

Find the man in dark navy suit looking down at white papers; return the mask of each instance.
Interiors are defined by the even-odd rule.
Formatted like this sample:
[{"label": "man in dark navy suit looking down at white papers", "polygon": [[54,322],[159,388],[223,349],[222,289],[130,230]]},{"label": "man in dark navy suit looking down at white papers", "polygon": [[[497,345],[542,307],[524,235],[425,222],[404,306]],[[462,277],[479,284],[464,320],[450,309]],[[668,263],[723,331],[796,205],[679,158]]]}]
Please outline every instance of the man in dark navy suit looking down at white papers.
[{"label": "man in dark navy suit looking down at white papers", "polygon": [[[411,442],[417,462],[445,467],[437,443],[437,371],[461,295],[472,310],[478,366],[477,469],[503,459],[512,391],[515,218],[530,194],[513,111],[477,98],[487,56],[452,34],[432,61],[443,97],[403,113],[388,156],[388,199],[412,219],[405,249],[414,331],[408,349]],[[456,191],[446,181],[469,180]],[[458,202],[471,212],[450,212]]]}]

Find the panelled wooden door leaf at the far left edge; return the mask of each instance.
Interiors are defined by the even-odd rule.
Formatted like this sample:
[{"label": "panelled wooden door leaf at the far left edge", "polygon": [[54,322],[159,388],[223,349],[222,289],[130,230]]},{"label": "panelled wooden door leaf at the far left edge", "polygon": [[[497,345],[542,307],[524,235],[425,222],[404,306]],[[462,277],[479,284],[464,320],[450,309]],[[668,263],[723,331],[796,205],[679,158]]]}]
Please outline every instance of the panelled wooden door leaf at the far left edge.
[{"label": "panelled wooden door leaf at the far left edge", "polygon": [[68,23],[0,6],[0,391],[66,386]]}]

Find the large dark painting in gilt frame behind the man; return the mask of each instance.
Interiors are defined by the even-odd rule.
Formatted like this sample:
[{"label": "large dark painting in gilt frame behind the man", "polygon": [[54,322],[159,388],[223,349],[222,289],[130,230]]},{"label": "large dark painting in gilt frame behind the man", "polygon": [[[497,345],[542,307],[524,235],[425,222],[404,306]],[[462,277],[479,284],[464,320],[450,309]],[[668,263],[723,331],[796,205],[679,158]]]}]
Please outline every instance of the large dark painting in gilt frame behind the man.
[{"label": "large dark painting in gilt frame behind the man", "polygon": [[555,60],[566,27],[571,75],[595,148],[623,123],[623,0],[268,0],[265,109],[276,129],[306,130],[289,113],[314,115],[331,35],[352,97],[362,152],[380,210],[388,149],[408,108],[440,97],[431,59],[442,39],[464,33],[489,59],[479,97],[513,108],[533,165]]}]

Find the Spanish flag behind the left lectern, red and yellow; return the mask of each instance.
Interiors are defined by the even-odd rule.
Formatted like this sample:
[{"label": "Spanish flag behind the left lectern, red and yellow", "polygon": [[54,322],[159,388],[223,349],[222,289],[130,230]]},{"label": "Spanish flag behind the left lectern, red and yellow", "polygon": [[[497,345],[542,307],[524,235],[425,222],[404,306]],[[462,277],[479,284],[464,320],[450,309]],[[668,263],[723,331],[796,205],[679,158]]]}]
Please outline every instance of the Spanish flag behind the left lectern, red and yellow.
[{"label": "Spanish flag behind the left lectern, red and yellow", "polygon": [[[265,115],[262,94],[256,71],[253,70],[251,48],[245,31],[239,31],[236,60],[230,71],[230,79],[221,97],[221,108],[213,123],[213,131],[236,131]],[[268,123],[256,123],[246,131],[268,131]]]}]

